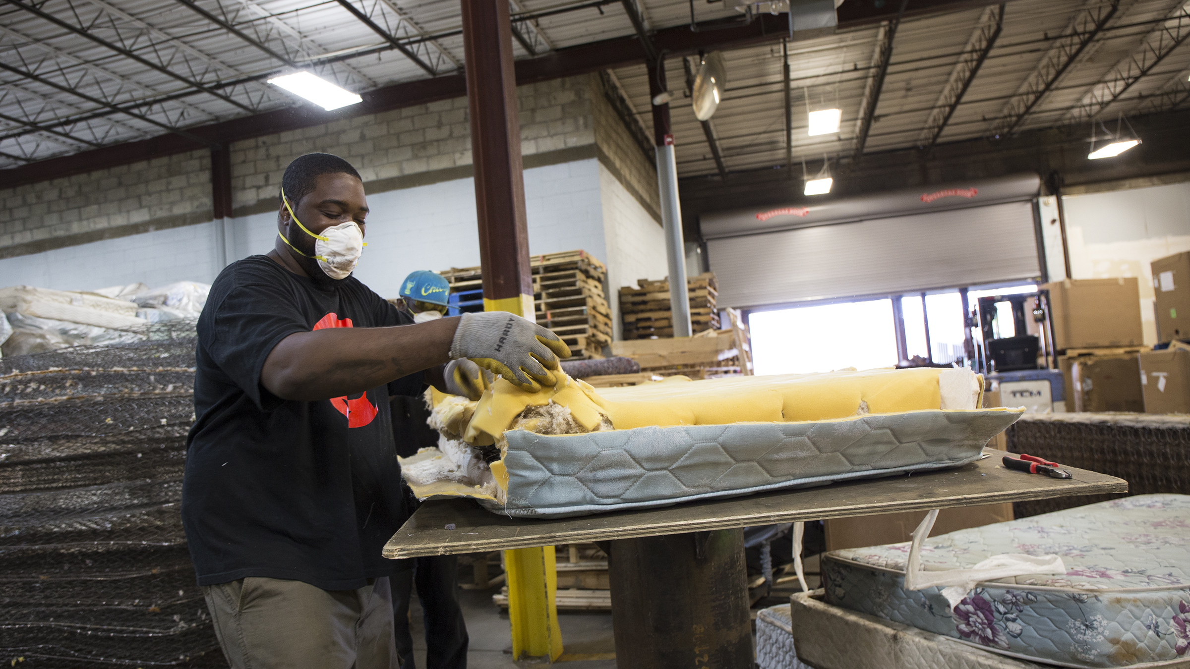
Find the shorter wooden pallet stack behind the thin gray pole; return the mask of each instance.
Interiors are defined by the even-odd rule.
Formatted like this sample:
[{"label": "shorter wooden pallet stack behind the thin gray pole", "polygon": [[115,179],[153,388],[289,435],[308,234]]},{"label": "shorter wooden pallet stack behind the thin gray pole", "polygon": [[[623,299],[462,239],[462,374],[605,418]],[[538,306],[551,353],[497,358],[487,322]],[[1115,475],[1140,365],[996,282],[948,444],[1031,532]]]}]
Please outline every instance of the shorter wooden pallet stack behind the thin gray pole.
[{"label": "shorter wooden pallet stack behind the thin gray pole", "polygon": [[[693,332],[719,330],[715,298],[719,295],[713,273],[687,280],[690,295],[690,326]],[[649,339],[674,336],[669,280],[637,280],[637,287],[620,288],[620,319],[625,339]]]}]

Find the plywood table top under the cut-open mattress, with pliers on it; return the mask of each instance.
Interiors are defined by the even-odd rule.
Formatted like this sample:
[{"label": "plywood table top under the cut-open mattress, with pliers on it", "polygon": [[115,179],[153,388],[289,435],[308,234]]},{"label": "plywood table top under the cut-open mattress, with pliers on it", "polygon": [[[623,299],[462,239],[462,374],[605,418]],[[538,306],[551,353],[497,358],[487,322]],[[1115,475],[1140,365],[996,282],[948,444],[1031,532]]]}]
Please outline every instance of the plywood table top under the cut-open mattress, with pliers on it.
[{"label": "plywood table top under the cut-open mattress, with pliers on it", "polygon": [[1065,467],[1071,479],[1014,471],[1001,464],[1003,451],[987,452],[991,457],[940,471],[556,520],[508,518],[464,499],[433,500],[389,539],[383,555],[481,552],[1128,490],[1123,479],[1084,469]]}]

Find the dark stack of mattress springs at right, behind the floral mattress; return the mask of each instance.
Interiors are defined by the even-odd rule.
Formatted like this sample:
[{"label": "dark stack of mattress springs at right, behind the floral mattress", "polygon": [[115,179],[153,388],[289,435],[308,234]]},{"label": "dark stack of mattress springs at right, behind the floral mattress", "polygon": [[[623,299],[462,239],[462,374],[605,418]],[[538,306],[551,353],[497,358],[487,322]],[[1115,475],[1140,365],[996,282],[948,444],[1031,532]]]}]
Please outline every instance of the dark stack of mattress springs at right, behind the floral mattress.
[{"label": "dark stack of mattress springs at right, behind the floral mattress", "polygon": [[[1006,432],[1008,450],[1128,481],[1127,495],[1190,490],[1190,415],[1026,413]],[[1013,504],[1016,518],[1107,501],[1123,494]]]}]

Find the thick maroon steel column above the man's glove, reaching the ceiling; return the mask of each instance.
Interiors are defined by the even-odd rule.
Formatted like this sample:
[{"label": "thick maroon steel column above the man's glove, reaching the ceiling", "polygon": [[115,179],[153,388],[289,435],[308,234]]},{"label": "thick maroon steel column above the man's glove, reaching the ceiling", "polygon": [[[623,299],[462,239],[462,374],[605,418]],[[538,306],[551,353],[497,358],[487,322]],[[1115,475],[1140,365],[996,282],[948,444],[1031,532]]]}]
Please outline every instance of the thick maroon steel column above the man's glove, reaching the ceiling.
[{"label": "thick maroon steel column above the man's glove, reaching the ceiling", "polygon": [[533,318],[516,76],[507,0],[462,0],[486,311]]}]

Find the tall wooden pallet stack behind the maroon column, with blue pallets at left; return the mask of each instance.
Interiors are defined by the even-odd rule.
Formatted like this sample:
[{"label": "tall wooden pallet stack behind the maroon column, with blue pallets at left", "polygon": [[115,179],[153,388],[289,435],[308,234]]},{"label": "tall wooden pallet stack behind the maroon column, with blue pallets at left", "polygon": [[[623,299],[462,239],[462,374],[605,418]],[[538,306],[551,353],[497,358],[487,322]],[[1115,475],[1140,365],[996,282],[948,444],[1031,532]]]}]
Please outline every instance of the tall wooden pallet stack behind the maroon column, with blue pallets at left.
[{"label": "tall wooden pallet stack behind the maroon column, with blue pallets at left", "polygon": [[[607,268],[585,251],[530,256],[537,323],[556,333],[574,354],[566,359],[603,357],[612,343],[612,310],[603,285]],[[477,267],[439,271],[459,312],[483,311],[483,274]]]}]

